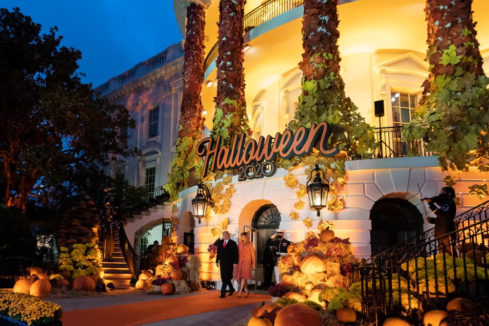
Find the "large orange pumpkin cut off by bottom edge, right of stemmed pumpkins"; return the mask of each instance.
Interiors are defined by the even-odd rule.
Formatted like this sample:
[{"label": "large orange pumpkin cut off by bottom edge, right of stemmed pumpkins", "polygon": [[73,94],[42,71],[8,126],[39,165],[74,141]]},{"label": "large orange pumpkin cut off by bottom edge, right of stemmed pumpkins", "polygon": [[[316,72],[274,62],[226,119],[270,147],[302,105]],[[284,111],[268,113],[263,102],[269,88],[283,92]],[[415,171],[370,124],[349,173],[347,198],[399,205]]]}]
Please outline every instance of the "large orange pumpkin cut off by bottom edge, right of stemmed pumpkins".
[{"label": "large orange pumpkin cut off by bottom edge, right of stemmed pumpkins", "polygon": [[280,309],[274,326],[321,326],[321,318],[307,304],[290,304]]}]

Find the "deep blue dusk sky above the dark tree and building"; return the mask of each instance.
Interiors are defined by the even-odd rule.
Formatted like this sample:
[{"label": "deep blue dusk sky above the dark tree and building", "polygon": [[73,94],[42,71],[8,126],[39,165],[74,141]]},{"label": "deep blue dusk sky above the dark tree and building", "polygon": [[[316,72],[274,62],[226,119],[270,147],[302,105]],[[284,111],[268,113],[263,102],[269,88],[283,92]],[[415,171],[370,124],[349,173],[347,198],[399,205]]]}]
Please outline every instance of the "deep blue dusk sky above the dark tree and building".
[{"label": "deep blue dusk sky above the dark tree and building", "polygon": [[0,0],[43,25],[58,26],[62,45],[82,52],[85,83],[97,87],[151,58],[182,35],[172,0]]}]

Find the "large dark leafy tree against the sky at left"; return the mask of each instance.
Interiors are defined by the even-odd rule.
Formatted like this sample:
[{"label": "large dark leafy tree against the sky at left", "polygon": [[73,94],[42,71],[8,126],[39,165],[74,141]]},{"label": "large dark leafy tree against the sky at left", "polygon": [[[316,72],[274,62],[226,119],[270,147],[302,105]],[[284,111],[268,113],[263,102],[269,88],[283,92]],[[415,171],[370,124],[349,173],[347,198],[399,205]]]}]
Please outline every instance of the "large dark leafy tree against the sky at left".
[{"label": "large dark leafy tree against the sky at left", "polygon": [[[0,190],[7,207],[25,208],[36,183],[69,185],[107,153],[129,156],[129,111],[94,95],[77,73],[80,51],[19,8],[0,8]],[[45,199],[45,198],[44,198]]]}]

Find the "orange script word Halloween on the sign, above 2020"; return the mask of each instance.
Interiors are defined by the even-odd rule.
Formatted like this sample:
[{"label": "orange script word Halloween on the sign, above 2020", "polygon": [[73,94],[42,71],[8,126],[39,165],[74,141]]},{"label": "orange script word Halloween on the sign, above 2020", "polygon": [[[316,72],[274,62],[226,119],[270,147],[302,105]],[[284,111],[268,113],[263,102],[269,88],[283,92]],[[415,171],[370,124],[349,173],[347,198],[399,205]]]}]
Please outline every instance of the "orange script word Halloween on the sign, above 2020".
[{"label": "orange script word Halloween on the sign, above 2020", "polygon": [[277,155],[285,159],[292,155],[309,155],[316,144],[323,155],[333,156],[339,150],[335,147],[328,149],[330,136],[329,124],[321,121],[317,125],[313,123],[311,128],[299,127],[295,134],[291,130],[285,130],[284,133],[277,132],[275,137],[260,136],[258,140],[249,139],[247,142],[246,135],[242,133],[234,137],[231,148],[222,145],[221,136],[218,136],[216,141],[213,141],[212,137],[207,137],[197,144],[196,153],[205,159],[202,171],[202,176],[205,176],[209,170],[214,172],[255,162],[272,162]]}]

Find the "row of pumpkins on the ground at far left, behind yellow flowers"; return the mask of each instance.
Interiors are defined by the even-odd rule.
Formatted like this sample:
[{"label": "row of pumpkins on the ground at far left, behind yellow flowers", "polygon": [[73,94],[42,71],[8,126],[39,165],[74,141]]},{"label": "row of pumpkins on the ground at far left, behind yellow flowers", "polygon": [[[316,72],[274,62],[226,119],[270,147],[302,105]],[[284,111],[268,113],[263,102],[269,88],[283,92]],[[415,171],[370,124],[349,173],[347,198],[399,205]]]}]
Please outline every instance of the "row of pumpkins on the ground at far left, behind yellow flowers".
[{"label": "row of pumpkins on the ground at far left, behind yellow flowers", "polygon": [[[69,286],[67,280],[56,282],[49,281],[49,276],[43,273],[40,267],[28,267],[29,277],[19,279],[13,288],[13,292],[27,293],[34,297],[45,297],[51,293],[52,286],[64,288]],[[89,276],[79,276],[73,280],[72,288],[78,291],[93,292],[95,290],[95,281]]]}]

